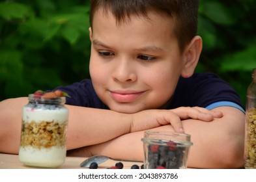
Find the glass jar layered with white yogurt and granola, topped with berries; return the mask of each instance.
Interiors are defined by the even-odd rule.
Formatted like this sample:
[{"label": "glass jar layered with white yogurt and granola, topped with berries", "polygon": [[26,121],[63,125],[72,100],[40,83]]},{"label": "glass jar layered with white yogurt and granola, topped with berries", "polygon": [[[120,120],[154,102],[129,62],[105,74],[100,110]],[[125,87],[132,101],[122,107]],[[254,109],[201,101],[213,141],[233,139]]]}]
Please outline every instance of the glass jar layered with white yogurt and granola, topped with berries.
[{"label": "glass jar layered with white yogurt and granola, topped with berries", "polygon": [[27,166],[57,168],[66,158],[66,99],[29,94],[23,107],[19,159]]}]

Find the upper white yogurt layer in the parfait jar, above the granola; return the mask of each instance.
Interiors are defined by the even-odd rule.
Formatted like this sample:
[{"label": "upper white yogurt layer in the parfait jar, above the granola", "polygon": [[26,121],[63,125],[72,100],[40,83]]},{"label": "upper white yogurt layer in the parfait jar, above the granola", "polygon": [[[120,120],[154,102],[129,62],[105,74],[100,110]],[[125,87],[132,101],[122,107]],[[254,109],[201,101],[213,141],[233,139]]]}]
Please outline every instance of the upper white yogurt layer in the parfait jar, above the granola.
[{"label": "upper white yogurt layer in the parfait jar, above the granola", "polygon": [[31,107],[23,107],[22,120],[25,122],[42,122],[42,121],[55,121],[67,122],[68,109],[33,109]]}]

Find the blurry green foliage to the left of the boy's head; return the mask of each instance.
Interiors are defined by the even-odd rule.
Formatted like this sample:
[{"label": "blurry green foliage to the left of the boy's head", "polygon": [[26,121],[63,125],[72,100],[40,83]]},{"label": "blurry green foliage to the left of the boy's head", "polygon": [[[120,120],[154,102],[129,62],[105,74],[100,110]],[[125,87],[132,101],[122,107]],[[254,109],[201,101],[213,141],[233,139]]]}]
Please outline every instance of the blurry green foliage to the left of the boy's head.
[{"label": "blurry green foliage to the left of the boy's head", "polygon": [[4,1],[0,27],[0,100],[89,77],[89,1]]}]

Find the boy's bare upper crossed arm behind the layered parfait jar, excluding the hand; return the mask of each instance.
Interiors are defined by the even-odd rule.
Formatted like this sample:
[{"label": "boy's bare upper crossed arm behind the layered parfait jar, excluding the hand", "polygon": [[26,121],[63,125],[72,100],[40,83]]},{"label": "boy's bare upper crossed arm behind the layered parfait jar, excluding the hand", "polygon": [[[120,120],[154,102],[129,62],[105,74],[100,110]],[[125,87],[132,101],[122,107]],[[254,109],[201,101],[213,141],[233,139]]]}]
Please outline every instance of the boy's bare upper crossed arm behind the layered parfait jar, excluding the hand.
[{"label": "boy's bare upper crossed arm behind the layered parfait jar, excluding the hand", "polygon": [[[0,152],[18,153],[20,146],[22,108],[27,98],[6,99],[0,102]],[[130,132],[130,118],[110,110],[89,109],[66,105],[68,149],[106,142]]]}]

